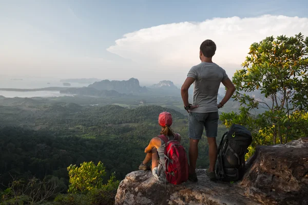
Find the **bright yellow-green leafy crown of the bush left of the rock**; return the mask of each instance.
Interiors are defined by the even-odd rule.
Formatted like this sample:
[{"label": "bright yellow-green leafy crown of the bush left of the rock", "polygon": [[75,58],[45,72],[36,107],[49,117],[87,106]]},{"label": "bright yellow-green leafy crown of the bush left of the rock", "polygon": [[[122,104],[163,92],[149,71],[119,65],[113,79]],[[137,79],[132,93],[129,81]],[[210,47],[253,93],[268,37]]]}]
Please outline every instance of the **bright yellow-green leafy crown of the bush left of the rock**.
[{"label": "bright yellow-green leafy crown of the bush left of the rock", "polygon": [[104,176],[106,175],[105,167],[100,161],[94,165],[92,161],[83,162],[80,167],[70,165],[68,168],[69,188],[68,193],[87,193],[92,189],[114,189],[118,187],[119,181],[115,181],[113,173],[104,185]]}]

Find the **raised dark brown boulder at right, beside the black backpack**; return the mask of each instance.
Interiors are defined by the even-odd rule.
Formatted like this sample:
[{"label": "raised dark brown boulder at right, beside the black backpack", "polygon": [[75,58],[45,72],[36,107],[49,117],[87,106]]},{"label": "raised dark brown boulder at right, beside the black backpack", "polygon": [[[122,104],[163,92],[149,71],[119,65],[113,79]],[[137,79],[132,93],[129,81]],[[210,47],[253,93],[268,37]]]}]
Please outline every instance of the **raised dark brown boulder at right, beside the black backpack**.
[{"label": "raised dark brown boulder at right, beside the black backpack", "polygon": [[246,194],[279,204],[308,204],[308,138],[259,146],[241,183]]}]

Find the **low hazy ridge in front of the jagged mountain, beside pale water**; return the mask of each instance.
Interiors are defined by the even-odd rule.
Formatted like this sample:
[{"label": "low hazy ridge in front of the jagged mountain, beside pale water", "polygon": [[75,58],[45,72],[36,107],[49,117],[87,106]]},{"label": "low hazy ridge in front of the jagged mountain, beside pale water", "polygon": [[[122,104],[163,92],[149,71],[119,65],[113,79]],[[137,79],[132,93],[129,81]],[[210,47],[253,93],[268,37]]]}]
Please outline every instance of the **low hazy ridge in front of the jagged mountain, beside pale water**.
[{"label": "low hazy ridge in front of the jagged mountain, beside pale water", "polygon": [[61,90],[60,93],[95,96],[95,97],[121,97],[125,95],[115,90],[98,90],[98,89],[89,88],[89,87],[69,88],[66,90]]}]

